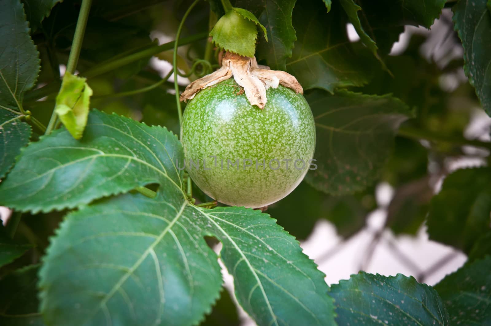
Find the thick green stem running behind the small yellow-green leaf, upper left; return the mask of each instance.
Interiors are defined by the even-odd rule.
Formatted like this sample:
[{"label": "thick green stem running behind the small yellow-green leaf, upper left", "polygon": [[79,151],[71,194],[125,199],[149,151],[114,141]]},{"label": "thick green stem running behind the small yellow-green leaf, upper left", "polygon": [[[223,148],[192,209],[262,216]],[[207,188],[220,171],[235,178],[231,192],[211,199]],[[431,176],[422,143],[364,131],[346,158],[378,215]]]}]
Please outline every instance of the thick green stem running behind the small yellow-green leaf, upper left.
[{"label": "thick green stem running behind the small yellow-green leaf, upper left", "polygon": [[[79,62],[80,50],[82,49],[83,35],[85,34],[85,26],[89,18],[90,5],[92,0],[82,0],[82,6],[80,7],[79,19],[77,20],[77,27],[75,27],[75,34],[73,35],[72,48],[68,55],[68,62],[66,65],[66,71],[74,74]],[[49,135],[55,127],[57,114],[55,109],[51,114],[50,122],[46,128],[45,135]]]}]

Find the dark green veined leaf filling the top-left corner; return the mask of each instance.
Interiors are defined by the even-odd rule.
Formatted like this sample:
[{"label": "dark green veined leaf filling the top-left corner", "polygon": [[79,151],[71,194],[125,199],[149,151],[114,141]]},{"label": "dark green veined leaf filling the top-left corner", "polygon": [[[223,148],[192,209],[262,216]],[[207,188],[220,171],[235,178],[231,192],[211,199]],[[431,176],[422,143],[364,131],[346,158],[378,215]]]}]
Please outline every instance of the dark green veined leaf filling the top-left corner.
[{"label": "dark green veined leaf filling the top-left corner", "polygon": [[0,109],[19,111],[39,73],[39,53],[19,0],[0,2],[0,22]]}]

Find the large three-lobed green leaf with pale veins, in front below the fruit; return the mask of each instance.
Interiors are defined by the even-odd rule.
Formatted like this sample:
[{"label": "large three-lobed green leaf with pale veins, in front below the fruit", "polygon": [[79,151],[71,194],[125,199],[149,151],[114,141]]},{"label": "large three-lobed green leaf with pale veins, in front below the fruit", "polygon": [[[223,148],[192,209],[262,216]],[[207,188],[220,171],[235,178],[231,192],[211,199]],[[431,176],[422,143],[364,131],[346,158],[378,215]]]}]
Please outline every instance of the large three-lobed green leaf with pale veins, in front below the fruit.
[{"label": "large three-lobed green leaf with pale veins, in front below the fruit", "polygon": [[[110,197],[65,219],[40,273],[49,324],[196,324],[221,285],[217,256],[205,236],[222,242],[221,259],[234,275],[236,297],[259,325],[333,323],[324,274],[274,219],[252,209],[207,210],[189,203],[176,166],[183,150],[164,128],[92,110],[81,141],[58,131],[36,144],[24,151],[17,173],[26,173],[28,162],[62,161],[35,170],[25,186],[32,194],[28,200],[13,171],[7,187],[0,186],[17,192],[9,195],[9,205],[48,211],[160,184],[155,198]],[[55,155],[61,150],[64,155]],[[48,189],[49,198],[37,197],[40,189]],[[22,194],[34,204],[22,204]]]}]

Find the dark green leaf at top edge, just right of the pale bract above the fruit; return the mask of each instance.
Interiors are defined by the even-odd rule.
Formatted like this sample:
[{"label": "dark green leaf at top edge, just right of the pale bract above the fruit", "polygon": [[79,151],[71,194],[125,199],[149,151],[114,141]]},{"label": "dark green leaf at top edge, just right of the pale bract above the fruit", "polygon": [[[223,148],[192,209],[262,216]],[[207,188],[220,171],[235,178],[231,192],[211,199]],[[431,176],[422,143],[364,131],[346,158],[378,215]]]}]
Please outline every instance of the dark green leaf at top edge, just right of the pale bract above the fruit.
[{"label": "dark green leaf at top edge, just right of the pale bract above the fruit", "polygon": [[[286,70],[286,59],[292,56],[295,29],[292,26],[292,11],[297,0],[238,0],[235,5],[247,8],[265,26],[267,37],[257,45],[256,57],[266,60],[276,70]],[[269,39],[269,42],[267,42]]]}]

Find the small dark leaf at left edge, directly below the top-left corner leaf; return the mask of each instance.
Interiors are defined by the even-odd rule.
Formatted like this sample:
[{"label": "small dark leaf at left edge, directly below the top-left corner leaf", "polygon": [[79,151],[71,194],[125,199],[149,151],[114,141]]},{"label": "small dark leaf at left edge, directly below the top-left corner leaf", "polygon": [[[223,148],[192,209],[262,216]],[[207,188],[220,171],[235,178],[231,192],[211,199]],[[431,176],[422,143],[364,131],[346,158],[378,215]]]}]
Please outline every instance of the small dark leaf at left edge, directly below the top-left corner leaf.
[{"label": "small dark leaf at left edge, directly below the top-left corner leaf", "polygon": [[0,109],[0,179],[7,174],[21,148],[27,145],[31,127],[21,116]]}]

